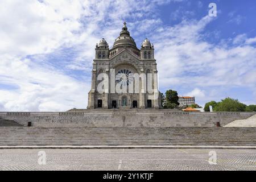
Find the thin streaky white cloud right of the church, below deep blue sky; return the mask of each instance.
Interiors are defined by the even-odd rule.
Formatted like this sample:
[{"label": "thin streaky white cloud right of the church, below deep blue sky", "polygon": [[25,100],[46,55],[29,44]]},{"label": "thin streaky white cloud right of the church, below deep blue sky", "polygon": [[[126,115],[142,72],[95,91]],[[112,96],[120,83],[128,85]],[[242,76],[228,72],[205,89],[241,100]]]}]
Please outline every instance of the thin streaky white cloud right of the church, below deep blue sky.
[{"label": "thin streaky white cloud right of the church, below deep blue sky", "polygon": [[[245,44],[249,40],[245,34],[233,40],[235,46],[208,43],[201,32],[211,20],[204,17],[199,21],[183,21],[174,27],[159,28],[158,34],[152,35],[160,88],[187,87],[198,93],[198,89],[205,90],[199,94],[200,104],[229,96],[225,92],[234,86],[256,90],[256,48]],[[212,92],[213,88],[225,90]]]}]

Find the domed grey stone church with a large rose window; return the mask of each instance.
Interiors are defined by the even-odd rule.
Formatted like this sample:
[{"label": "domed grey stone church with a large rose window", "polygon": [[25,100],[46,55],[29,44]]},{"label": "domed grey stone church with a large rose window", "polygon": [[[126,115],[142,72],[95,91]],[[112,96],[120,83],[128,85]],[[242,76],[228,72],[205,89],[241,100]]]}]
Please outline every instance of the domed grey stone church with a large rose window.
[{"label": "domed grey stone church with a large rose window", "polygon": [[[130,36],[130,32],[127,30],[126,23],[123,23],[122,31],[118,38],[115,39],[113,47],[109,48],[106,40],[102,39],[96,45],[95,51],[92,88],[88,94],[88,109],[145,109],[159,108],[161,106],[154,46],[148,39],[145,39],[141,44],[141,49],[138,49],[134,39]],[[110,80],[110,73],[113,73],[113,70],[114,81]],[[108,77],[101,78],[102,73]],[[140,76],[144,74],[145,81],[143,81],[143,77],[139,77],[139,82],[130,80],[129,74],[134,75],[136,73]],[[151,79],[148,79],[148,76]],[[129,84],[133,84],[138,86],[139,92],[113,93],[110,90],[110,86],[105,89],[105,92],[99,92],[98,86],[104,79],[109,79],[106,80],[109,85],[114,84],[116,86],[117,84],[125,83],[127,84],[125,86],[129,86]],[[150,85],[149,82],[151,82],[153,92],[147,92],[147,88]]]}]

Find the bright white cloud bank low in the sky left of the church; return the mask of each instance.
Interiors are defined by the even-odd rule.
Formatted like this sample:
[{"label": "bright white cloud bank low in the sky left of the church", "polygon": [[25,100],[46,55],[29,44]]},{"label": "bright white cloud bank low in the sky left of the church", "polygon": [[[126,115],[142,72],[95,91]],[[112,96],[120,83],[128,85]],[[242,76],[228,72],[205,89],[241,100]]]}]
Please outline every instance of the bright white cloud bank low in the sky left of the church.
[{"label": "bright white cloud bank low in the sky left of the church", "polygon": [[18,87],[0,90],[0,104],[5,110],[57,111],[85,105],[89,83],[77,81],[51,67],[34,67],[30,60],[15,57],[2,60],[0,68],[3,67],[8,69],[0,70],[1,81]]}]

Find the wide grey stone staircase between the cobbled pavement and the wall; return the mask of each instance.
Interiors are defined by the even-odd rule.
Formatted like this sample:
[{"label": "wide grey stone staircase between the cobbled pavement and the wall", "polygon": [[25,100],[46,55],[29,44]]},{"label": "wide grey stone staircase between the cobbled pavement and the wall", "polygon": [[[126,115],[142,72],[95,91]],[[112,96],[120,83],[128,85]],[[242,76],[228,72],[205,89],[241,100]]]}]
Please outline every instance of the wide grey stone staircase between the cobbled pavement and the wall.
[{"label": "wide grey stone staircase between the cobbled pavement and the wall", "polygon": [[0,127],[0,146],[256,146],[256,127]]}]

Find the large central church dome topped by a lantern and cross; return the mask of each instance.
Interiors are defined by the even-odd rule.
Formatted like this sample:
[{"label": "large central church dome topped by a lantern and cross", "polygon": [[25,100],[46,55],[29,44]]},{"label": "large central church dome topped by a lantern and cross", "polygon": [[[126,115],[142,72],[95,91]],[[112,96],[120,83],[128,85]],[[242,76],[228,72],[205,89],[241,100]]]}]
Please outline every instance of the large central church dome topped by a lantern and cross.
[{"label": "large central church dome topped by a lantern and cross", "polygon": [[122,31],[117,39],[115,39],[113,48],[116,47],[133,47],[137,49],[134,39],[130,36],[130,32],[126,27],[126,23],[123,23]]}]

